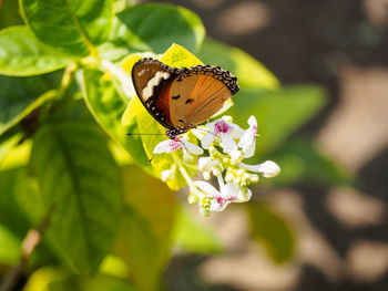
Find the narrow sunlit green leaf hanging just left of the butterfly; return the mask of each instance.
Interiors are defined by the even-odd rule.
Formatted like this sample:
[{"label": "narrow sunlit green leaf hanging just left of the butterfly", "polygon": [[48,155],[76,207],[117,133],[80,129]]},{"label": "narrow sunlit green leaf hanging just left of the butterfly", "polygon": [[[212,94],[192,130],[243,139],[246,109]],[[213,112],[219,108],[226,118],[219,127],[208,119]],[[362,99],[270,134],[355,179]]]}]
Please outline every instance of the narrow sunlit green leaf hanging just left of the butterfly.
[{"label": "narrow sunlit green leaf hanging just left of the butterfly", "polygon": [[133,119],[125,126],[121,123],[129,101],[118,93],[112,80],[103,77],[96,70],[84,70],[82,91],[86,105],[99,125],[113,141],[123,146],[139,165],[153,174],[141,137],[126,135],[139,133],[136,121]]}]

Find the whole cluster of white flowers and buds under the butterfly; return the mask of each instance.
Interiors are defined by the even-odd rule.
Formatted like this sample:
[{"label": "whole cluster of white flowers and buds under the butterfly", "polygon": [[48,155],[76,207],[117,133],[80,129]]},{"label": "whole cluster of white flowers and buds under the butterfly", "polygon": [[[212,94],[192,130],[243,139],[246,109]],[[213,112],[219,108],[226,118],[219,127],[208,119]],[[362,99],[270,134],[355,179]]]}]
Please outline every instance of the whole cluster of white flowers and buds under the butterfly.
[{"label": "whole cluster of white flowers and buds under the butterfly", "polygon": [[[254,116],[248,119],[249,127],[242,129],[232,123],[231,116],[208,123],[205,126],[192,129],[201,141],[201,147],[188,142],[187,134],[174,139],[163,141],[154,148],[154,154],[183,150],[183,163],[191,164],[192,155],[204,155],[197,159],[196,169],[202,173],[204,180],[192,180],[184,167],[180,167],[190,187],[190,204],[197,204],[204,216],[210,211],[222,211],[231,202],[245,202],[251,199],[248,186],[257,183],[262,174],[264,177],[275,177],[280,168],[272,160],[258,165],[244,164],[255,153],[257,122]],[[206,149],[206,152],[204,150]],[[176,170],[162,172],[162,179],[170,179]],[[207,180],[212,175],[217,178],[219,188],[216,189]]]}]

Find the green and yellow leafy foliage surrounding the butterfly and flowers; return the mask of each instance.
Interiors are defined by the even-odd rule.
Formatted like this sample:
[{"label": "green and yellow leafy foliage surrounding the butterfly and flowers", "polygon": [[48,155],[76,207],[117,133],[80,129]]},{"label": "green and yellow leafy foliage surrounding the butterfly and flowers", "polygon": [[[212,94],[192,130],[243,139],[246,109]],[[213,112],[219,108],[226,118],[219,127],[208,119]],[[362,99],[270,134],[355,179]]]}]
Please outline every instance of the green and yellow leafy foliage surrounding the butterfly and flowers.
[{"label": "green and yellow leafy foliage surrounding the butterfly and flowers", "polygon": [[[124,92],[130,84],[108,72],[124,63],[125,75],[140,53],[235,74],[241,92],[228,114],[242,126],[257,117],[253,159],[280,164],[284,176],[274,183],[351,180],[308,138],[288,142],[325,106],[320,87],[282,86],[245,52],[205,39],[201,19],[184,8],[134,2],[0,2],[0,264],[16,266],[27,231],[49,219],[24,291],[161,290],[173,248],[225,251],[176,201],[171,189],[185,186],[182,177],[170,188],[157,179],[175,163],[173,155],[149,163],[161,137],[126,136],[164,133]],[[295,235],[286,220],[262,204],[248,214],[253,239],[276,261],[290,259]],[[112,256],[120,268],[105,264]]]}]

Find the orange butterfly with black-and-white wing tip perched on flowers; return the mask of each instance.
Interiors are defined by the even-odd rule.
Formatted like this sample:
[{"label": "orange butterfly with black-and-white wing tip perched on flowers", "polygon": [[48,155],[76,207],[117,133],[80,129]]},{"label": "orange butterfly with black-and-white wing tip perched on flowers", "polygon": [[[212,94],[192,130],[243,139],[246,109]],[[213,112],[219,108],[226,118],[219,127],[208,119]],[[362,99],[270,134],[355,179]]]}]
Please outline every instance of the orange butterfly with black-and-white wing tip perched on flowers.
[{"label": "orange butterfly with black-and-white wing tip perched on flowers", "polygon": [[173,67],[145,58],[132,69],[139,98],[175,138],[217,113],[239,90],[237,79],[219,66]]}]

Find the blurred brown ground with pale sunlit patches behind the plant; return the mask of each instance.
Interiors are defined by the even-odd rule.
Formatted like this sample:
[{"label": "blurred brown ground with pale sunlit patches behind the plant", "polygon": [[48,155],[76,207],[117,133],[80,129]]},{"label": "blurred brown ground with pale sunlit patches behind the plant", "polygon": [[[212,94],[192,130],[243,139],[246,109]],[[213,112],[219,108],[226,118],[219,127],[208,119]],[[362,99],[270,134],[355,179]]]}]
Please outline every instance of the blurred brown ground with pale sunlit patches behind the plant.
[{"label": "blurred brown ground with pale sunlit patches behind the plant", "polygon": [[353,186],[256,188],[255,199],[295,233],[293,258],[280,264],[247,239],[245,211],[212,215],[206,220],[227,251],[175,254],[166,271],[172,289],[207,290],[206,282],[211,290],[388,290],[388,1],[160,2],[193,10],[207,35],[245,50],[283,84],[325,86],[326,107],[295,135],[313,137],[355,175]]}]

